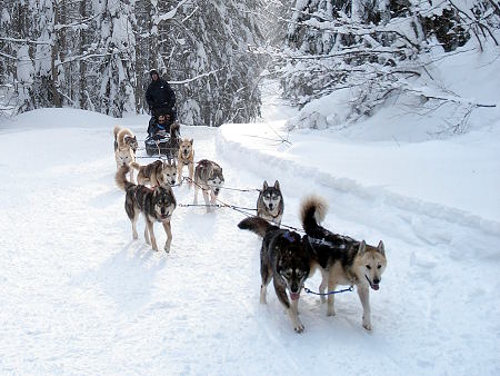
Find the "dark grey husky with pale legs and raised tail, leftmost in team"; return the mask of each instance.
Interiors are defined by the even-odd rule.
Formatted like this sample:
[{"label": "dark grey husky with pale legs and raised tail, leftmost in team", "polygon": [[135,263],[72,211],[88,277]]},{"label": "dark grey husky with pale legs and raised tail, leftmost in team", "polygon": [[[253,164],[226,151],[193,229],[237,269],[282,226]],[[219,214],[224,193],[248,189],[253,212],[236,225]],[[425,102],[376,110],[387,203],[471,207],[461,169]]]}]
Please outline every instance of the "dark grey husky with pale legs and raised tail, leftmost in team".
[{"label": "dark grey husky with pale legs and raised tail, leftmost in team", "polygon": [[138,238],[137,220],[139,218],[139,214],[142,212],[146,219],[146,243],[148,245],[151,245],[151,248],[153,250],[158,250],[153,225],[156,221],[159,221],[163,225],[164,232],[167,234],[167,241],[163,249],[169,253],[170,244],[172,243],[170,219],[172,217],[173,210],[177,207],[177,201],[176,197],[173,196],[172,188],[148,188],[142,185],[134,185],[127,180],[126,176],[129,169],[129,166],[122,166],[118,170],[114,180],[118,187],[126,191],[124,208],[130,221],[132,222],[132,237],[133,239]]}]

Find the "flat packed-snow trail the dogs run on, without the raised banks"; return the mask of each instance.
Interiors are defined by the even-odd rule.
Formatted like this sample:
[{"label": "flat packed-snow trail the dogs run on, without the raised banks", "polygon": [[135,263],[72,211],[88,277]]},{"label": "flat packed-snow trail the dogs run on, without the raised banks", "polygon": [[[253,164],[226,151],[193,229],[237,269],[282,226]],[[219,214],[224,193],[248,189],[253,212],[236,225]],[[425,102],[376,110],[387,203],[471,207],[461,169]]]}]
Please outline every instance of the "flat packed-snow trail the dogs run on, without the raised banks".
[{"label": "flat packed-snow trail the dogs run on, without the raised banks", "polygon": [[[53,148],[60,132],[64,144]],[[498,234],[329,187],[300,166],[237,148],[216,129],[183,128],[182,137],[194,139],[197,160],[222,166],[228,187],[279,179],[283,224],[299,227],[300,199],[317,192],[331,202],[327,227],[384,240],[389,264],[371,294],[373,333],[361,327],[356,294],[338,297],[336,317],[304,295],[302,335],[272,288],[260,306],[260,240],[237,228],[240,212],[179,207],[170,255],[143,243],[142,220],[131,241],[113,181],[112,125],[40,129],[23,132],[22,148],[16,132],[0,138],[0,171],[14,177],[0,187],[9,197],[0,201],[2,374],[456,374],[458,362],[464,375],[498,374],[491,318],[500,314],[500,286],[484,284],[498,280]],[[193,190],[184,185],[176,197],[191,204]],[[254,207],[257,192],[223,190],[220,199]],[[159,226],[156,234],[162,244]]]}]

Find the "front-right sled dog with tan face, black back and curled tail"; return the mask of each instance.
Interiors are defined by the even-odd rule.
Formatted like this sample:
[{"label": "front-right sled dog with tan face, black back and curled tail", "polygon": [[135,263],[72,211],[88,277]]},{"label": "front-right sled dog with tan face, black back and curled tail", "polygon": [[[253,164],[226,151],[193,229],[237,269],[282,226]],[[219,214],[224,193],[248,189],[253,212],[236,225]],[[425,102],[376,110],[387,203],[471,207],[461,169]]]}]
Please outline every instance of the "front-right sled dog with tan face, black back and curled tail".
[{"label": "front-right sled dog with tan face, black back and curled tail", "polygon": [[[327,202],[317,196],[302,200],[300,217],[307,234],[307,244],[313,255],[313,268],[321,270],[320,293],[334,290],[337,285],[357,287],[363,307],[362,325],[372,329],[370,310],[370,288],[379,289],[383,270],[387,266],[386,250],[382,240],[377,247],[358,241],[348,236],[333,234],[318,222],[324,219]],[[322,298],[324,301],[324,298]],[[333,295],[328,295],[328,316],[334,316]]]}]

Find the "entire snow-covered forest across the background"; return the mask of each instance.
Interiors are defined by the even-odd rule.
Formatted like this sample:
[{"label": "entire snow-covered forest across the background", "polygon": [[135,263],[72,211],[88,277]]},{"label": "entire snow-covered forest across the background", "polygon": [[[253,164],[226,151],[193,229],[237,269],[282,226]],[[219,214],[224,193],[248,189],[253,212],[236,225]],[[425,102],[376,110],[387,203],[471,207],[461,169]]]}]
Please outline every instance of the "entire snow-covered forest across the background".
[{"label": "entire snow-covered forest across the background", "polygon": [[471,38],[498,46],[499,24],[497,0],[0,0],[0,113],[141,113],[154,68],[186,125],[259,118],[276,79],[298,107],[348,89],[348,121],[410,95],[451,103],[460,128],[490,105],[450,96],[430,67]]}]

